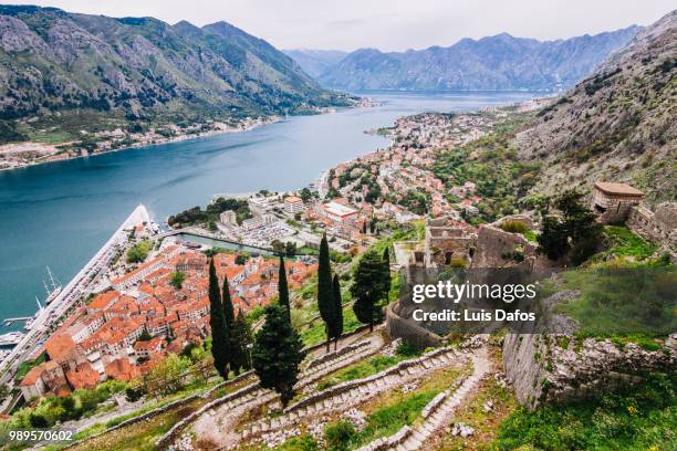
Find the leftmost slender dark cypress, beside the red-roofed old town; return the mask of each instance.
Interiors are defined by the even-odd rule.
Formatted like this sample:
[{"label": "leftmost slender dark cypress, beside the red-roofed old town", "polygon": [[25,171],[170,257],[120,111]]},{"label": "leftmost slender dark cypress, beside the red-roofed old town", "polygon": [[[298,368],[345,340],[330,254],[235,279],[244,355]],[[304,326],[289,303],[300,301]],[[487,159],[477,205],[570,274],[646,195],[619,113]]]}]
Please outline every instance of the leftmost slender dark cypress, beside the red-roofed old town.
[{"label": "leftmost slender dark cypress, beside the red-roofed old town", "polygon": [[230,337],[223,315],[219,280],[216,275],[213,260],[209,262],[209,326],[211,327],[211,355],[213,366],[223,379],[228,379],[228,359],[230,356]]}]

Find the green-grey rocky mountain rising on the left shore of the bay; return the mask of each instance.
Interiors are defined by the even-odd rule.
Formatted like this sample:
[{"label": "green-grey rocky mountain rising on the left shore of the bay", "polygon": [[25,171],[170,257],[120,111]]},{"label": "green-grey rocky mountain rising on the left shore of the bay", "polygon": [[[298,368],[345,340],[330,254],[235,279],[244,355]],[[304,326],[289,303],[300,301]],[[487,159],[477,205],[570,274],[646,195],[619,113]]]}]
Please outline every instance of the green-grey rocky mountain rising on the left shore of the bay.
[{"label": "green-grey rocky mountain rising on the left shore of the bay", "polygon": [[101,116],[190,122],[344,102],[268,42],[226,22],[197,28],[0,6],[2,140],[21,134],[15,119],[82,108],[92,112],[90,123]]}]

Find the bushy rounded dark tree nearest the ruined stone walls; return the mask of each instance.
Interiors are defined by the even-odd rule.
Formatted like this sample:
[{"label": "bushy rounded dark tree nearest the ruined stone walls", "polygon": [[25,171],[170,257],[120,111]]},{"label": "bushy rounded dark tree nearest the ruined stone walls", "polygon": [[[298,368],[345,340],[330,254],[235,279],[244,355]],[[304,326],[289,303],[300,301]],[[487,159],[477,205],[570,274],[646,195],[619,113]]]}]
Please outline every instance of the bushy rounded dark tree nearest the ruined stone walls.
[{"label": "bushy rounded dark tree nearest the ruined stone walls", "polygon": [[351,294],[355,298],[355,316],[361,323],[368,324],[369,331],[374,331],[374,323],[381,319],[377,303],[386,296],[383,260],[376,252],[367,251],[360,259],[353,274]]}]

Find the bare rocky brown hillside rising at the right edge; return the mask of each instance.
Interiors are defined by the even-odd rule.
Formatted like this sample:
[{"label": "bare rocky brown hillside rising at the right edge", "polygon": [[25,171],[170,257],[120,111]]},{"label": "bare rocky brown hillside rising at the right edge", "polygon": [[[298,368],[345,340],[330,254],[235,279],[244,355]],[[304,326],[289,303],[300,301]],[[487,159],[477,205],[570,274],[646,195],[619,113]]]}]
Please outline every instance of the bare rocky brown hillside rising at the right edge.
[{"label": "bare rocky brown hillside rising at the right edge", "polygon": [[532,192],[627,181],[649,201],[677,198],[677,11],[648,27],[518,135],[540,161]]}]

